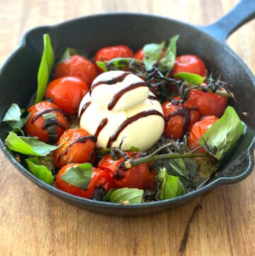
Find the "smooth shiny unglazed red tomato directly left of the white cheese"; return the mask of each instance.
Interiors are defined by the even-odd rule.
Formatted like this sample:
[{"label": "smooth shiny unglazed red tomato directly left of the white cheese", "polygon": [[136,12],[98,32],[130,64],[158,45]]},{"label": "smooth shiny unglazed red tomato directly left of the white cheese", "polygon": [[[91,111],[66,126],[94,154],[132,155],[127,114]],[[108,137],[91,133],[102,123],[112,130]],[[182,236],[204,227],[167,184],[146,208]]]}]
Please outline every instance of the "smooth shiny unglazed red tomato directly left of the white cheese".
[{"label": "smooth shiny unglazed red tomato directly left of the white cheese", "polygon": [[89,91],[89,87],[79,77],[61,77],[47,86],[46,98],[52,99],[67,115],[78,113],[81,99]]}]

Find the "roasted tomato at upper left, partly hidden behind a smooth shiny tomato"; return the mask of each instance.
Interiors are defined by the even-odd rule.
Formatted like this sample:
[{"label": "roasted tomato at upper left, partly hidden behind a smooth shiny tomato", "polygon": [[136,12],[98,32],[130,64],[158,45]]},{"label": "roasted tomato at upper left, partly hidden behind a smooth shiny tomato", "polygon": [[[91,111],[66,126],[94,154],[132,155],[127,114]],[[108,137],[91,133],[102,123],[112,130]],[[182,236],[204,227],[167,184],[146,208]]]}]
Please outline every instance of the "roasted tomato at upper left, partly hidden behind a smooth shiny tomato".
[{"label": "roasted tomato at upper left, partly hidden behind a smooth shiny tomato", "polygon": [[67,76],[80,77],[89,87],[97,75],[98,72],[94,64],[86,59],[86,57],[80,55],[73,55],[67,60],[60,62],[60,64],[55,67],[53,73],[55,79]]}]

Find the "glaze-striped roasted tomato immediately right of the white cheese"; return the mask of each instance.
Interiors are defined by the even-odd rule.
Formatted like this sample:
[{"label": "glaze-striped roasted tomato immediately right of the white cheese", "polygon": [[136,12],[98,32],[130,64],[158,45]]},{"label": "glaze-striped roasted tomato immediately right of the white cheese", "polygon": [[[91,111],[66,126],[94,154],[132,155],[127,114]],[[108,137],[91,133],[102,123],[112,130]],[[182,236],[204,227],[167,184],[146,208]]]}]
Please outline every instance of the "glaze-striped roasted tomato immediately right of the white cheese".
[{"label": "glaze-striped roasted tomato immediately right of the white cheese", "polygon": [[184,133],[190,130],[196,121],[199,120],[199,114],[196,108],[185,102],[179,104],[180,97],[175,97],[174,101],[166,101],[162,104],[166,125],[164,136],[178,140],[183,138]]}]

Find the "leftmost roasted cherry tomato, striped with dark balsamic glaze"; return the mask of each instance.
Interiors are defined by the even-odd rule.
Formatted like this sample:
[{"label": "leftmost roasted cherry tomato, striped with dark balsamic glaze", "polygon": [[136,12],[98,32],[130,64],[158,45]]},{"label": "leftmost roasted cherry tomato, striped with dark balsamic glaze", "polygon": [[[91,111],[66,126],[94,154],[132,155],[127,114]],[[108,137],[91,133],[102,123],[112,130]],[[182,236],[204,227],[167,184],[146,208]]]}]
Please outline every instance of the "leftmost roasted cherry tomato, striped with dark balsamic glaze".
[{"label": "leftmost roasted cherry tomato, striped with dark balsamic glaze", "polygon": [[[25,125],[26,133],[29,136],[38,137],[39,140],[45,143],[55,143],[55,141],[51,141],[51,138],[59,138],[64,133],[64,130],[68,129],[67,118],[62,110],[50,101],[41,101],[30,106],[28,113],[30,113],[30,117]],[[56,118],[45,120],[43,117],[45,113],[56,113],[57,116]],[[53,125],[57,125],[57,134],[50,134],[49,136],[49,128]]]}]

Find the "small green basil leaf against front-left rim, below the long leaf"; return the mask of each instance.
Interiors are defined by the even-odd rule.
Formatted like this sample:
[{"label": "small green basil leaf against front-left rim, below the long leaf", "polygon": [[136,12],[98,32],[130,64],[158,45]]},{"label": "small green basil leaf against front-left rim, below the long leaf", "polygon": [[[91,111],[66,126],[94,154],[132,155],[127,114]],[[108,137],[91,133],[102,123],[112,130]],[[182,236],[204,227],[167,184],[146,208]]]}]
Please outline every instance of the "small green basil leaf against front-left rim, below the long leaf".
[{"label": "small green basil leaf against front-left rim, below the long leaf", "polygon": [[28,169],[35,175],[35,177],[38,177],[38,179],[47,184],[51,185],[53,183],[54,177],[52,172],[41,164],[38,157],[28,158],[26,159],[26,163],[28,165]]}]

